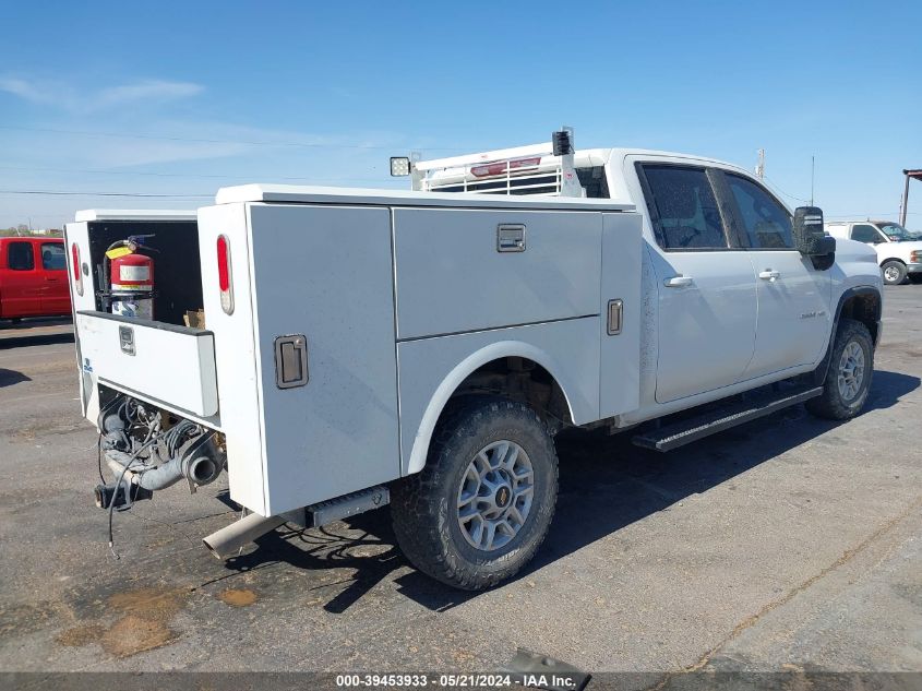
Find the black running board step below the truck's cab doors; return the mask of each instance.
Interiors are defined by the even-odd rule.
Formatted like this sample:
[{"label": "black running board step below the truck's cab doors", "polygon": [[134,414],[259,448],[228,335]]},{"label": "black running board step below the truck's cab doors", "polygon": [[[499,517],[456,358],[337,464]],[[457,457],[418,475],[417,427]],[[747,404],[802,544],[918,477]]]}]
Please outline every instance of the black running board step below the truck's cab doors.
[{"label": "black running board step below the truck's cab doors", "polygon": [[739,403],[718,410],[697,415],[692,418],[651,429],[635,436],[631,441],[644,449],[672,451],[693,441],[722,432],[726,429],[777,413],[782,408],[815,398],[823,393],[823,386],[810,389],[789,389],[778,392],[769,390],[762,394],[750,394]]}]

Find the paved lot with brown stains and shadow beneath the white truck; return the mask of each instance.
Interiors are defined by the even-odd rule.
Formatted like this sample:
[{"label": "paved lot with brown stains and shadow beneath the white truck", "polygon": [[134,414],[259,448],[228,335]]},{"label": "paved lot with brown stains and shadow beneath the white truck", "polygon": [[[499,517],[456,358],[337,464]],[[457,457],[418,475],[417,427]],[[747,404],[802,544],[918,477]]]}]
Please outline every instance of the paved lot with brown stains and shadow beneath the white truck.
[{"label": "paved lot with brown stains and shadow beneath the white truck", "polygon": [[[922,286],[887,289],[866,412],[802,407],[660,455],[559,440],[534,565],[488,593],[419,575],[386,511],[224,564],[220,482],[116,515],[67,326],[0,331],[0,670],[922,670]],[[655,679],[656,680],[656,679]]]}]

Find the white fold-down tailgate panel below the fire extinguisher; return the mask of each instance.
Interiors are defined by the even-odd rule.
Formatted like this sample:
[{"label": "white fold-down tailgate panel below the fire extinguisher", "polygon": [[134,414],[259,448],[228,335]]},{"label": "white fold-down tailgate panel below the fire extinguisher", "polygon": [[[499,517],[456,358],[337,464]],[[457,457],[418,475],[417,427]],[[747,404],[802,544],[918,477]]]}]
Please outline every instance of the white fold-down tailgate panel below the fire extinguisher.
[{"label": "white fold-down tailgate panel below the fire extinguisher", "polygon": [[79,311],[75,318],[81,367],[99,383],[168,409],[200,417],[217,414],[211,331],[98,311]]}]

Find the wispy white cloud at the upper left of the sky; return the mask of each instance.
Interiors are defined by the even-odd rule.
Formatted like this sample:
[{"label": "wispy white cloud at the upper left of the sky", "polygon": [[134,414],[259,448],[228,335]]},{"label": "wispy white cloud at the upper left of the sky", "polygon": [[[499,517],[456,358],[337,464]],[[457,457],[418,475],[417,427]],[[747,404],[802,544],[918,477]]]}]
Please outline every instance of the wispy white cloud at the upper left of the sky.
[{"label": "wispy white cloud at the upper left of the sky", "polygon": [[57,106],[74,114],[89,114],[111,108],[143,104],[145,107],[195,96],[204,86],[192,82],[140,80],[116,86],[77,88],[62,82],[0,76],[0,92],[7,92],[32,104]]}]

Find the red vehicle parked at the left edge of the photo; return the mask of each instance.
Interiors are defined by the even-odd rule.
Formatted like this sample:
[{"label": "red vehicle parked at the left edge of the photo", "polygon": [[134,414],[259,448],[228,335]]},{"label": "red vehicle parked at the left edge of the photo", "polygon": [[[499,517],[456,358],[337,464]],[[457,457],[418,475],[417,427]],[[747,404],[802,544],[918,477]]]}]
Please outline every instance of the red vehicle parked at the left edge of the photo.
[{"label": "red vehicle parked at the left edge of the photo", "polygon": [[61,238],[0,238],[0,319],[71,313]]}]

